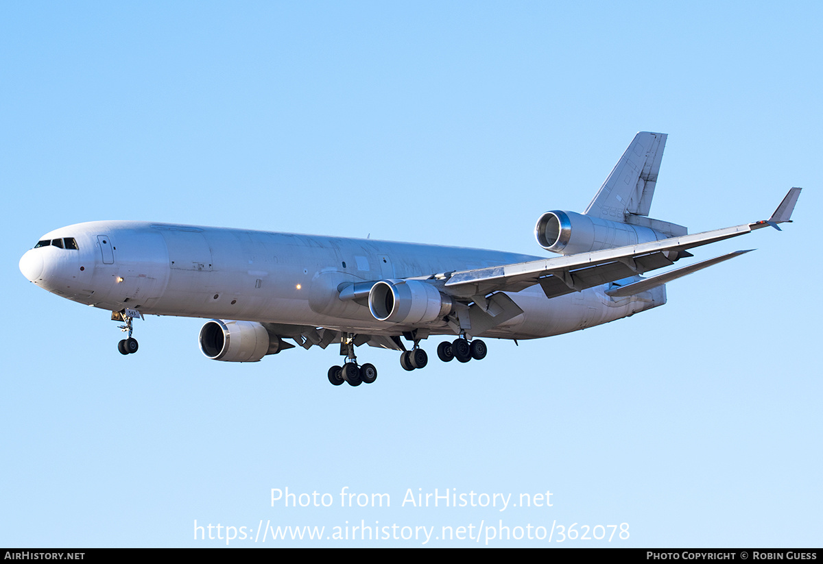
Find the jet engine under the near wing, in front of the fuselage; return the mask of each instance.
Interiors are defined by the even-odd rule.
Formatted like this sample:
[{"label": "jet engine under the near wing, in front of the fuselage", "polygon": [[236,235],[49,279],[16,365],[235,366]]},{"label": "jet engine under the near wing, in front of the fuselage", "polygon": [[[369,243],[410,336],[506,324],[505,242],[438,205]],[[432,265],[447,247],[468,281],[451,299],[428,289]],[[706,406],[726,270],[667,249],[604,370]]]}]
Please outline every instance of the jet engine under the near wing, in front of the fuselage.
[{"label": "jet engine under the near wing, in front of the fuselage", "polygon": [[413,325],[435,321],[452,310],[452,299],[421,280],[380,280],[369,292],[377,321]]}]

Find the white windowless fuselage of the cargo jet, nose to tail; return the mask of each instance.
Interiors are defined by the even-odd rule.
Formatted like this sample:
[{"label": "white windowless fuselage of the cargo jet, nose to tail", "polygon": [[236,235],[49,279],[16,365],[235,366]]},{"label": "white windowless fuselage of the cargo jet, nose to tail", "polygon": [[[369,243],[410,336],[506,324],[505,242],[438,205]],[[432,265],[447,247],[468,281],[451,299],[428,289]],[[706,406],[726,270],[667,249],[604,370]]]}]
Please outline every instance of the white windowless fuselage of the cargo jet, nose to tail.
[{"label": "white windowless fuselage of the cargo jet, nose to tail", "polygon": [[[362,301],[342,300],[351,283],[429,277],[533,261],[509,252],[139,221],[96,221],[56,229],[77,248],[41,246],[21,258],[26,277],[54,294],[110,311],[221,318],[400,335]],[[551,300],[539,285],[509,297],[523,314],[486,331],[531,339],[584,329],[666,301],[664,287],[626,298],[608,284]],[[453,334],[441,320],[431,334]],[[475,335],[481,336],[481,335]]]}]

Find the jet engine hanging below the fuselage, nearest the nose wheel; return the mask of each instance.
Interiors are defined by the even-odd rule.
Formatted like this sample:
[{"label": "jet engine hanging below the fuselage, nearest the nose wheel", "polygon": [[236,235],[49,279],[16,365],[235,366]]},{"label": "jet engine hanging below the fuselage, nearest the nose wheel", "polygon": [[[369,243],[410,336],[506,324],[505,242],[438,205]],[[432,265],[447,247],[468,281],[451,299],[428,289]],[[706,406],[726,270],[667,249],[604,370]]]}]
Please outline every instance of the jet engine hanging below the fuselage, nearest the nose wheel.
[{"label": "jet engine hanging below the fuselage, nearest the nose wheel", "polygon": [[280,339],[254,321],[212,319],[200,330],[200,350],[212,360],[256,363],[280,352]]}]

